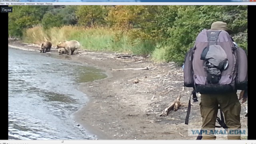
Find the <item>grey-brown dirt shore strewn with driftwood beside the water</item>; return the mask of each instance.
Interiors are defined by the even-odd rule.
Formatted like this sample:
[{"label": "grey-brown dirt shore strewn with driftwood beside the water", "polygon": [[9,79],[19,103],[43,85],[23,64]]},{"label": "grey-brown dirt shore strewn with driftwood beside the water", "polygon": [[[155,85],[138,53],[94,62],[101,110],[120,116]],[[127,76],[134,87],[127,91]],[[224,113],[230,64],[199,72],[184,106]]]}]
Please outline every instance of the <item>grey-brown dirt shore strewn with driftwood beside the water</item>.
[{"label": "grey-brown dirt shore strewn with driftwood beside the water", "polygon": [[[9,45],[38,50],[38,46],[20,42],[9,42]],[[57,50],[52,48],[51,53],[57,54]],[[202,124],[198,102],[192,103],[188,125],[184,124],[187,106],[171,111],[168,116],[160,116],[179,95],[180,102],[188,104],[191,89],[182,86],[182,68],[174,63],[156,64],[150,56],[116,58],[119,55],[83,52],[69,58],[101,68],[108,74],[106,79],[80,85],[79,89],[89,96],[90,102],[76,112],[77,122],[103,140],[195,140],[196,137],[188,136],[188,128],[200,128]],[[112,70],[145,67],[150,68]],[[138,83],[134,83],[135,79]],[[246,105],[247,102],[242,104],[242,128],[247,128]]]}]

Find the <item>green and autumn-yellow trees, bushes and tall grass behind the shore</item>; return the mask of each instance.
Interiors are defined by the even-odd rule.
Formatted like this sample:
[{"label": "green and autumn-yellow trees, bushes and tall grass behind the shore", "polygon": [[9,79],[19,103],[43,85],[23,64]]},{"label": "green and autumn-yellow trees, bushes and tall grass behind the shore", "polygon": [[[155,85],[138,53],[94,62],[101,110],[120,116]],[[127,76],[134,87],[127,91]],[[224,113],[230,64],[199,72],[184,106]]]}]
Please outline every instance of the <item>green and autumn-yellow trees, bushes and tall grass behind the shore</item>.
[{"label": "green and autumn-yellow trees, bushes and tall grass behind the shore", "polygon": [[226,22],[247,50],[247,6],[13,6],[9,36],[39,44],[78,40],[96,51],[182,63],[198,33]]}]

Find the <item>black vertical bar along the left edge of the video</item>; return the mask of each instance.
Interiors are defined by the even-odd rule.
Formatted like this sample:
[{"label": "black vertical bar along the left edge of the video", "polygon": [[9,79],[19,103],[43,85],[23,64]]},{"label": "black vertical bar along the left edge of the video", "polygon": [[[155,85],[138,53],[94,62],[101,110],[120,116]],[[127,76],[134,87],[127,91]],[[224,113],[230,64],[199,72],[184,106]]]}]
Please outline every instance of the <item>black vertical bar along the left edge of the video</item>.
[{"label": "black vertical bar along the left edge of the video", "polygon": [[[2,7],[2,6],[1,6]],[[2,50],[2,64],[1,67],[6,68],[6,77],[2,77],[2,96],[1,96],[1,117],[0,117],[0,140],[8,140],[8,13],[0,12],[0,30],[1,30],[1,37],[0,44]],[[4,62],[3,62],[4,61]],[[4,71],[4,70],[2,70]],[[4,84],[6,81],[7,84]],[[4,89],[6,90],[7,94],[4,94]]]}]

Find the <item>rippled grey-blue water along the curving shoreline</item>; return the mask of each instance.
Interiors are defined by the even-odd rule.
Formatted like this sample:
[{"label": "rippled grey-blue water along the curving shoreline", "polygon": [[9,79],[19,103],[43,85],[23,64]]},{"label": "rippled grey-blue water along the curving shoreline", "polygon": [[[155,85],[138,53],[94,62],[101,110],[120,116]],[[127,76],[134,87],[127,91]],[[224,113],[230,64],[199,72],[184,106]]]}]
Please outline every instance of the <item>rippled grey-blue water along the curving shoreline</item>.
[{"label": "rippled grey-blue water along the curving shoreline", "polygon": [[87,102],[77,82],[106,76],[47,54],[8,50],[9,139],[92,139],[72,120]]}]

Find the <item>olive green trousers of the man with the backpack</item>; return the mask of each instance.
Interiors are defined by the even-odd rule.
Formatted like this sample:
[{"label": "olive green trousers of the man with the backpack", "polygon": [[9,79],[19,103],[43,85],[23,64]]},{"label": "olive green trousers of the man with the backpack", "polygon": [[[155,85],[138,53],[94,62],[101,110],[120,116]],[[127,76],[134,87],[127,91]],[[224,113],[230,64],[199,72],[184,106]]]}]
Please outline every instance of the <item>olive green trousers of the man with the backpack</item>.
[{"label": "olive green trousers of the man with the backpack", "polygon": [[[200,112],[202,116],[202,130],[215,129],[218,105],[224,113],[228,128],[241,128],[241,104],[236,92],[228,94],[201,94]],[[202,134],[202,140],[215,140],[215,135]],[[228,135],[228,140],[240,140],[241,135]]]}]

